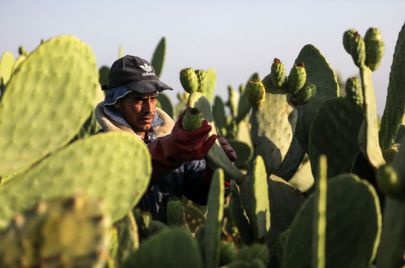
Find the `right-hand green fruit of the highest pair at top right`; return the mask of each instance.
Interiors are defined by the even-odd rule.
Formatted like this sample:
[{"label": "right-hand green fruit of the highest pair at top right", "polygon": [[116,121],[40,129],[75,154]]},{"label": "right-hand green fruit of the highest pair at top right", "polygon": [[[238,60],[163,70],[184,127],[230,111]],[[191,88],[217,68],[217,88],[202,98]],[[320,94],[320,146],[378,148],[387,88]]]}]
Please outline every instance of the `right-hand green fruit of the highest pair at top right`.
[{"label": "right-hand green fruit of the highest pair at top right", "polygon": [[384,55],[384,41],[381,32],[377,28],[369,28],[364,36],[366,45],[366,65],[370,70],[375,71],[380,66]]}]

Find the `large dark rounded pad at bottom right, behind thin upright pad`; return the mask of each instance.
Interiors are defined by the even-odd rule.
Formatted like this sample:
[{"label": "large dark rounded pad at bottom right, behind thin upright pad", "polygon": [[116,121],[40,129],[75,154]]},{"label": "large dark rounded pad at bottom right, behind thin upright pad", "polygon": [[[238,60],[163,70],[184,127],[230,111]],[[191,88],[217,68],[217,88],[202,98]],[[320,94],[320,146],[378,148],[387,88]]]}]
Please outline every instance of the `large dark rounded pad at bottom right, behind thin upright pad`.
[{"label": "large dark rounded pad at bottom right, behind thin upright pad", "polygon": [[[327,189],[325,267],[368,267],[375,257],[381,232],[380,206],[374,188],[354,175],[343,174],[329,179]],[[282,267],[311,267],[314,256],[308,246],[315,243],[312,215],[316,203],[310,196],[294,218]]]}]

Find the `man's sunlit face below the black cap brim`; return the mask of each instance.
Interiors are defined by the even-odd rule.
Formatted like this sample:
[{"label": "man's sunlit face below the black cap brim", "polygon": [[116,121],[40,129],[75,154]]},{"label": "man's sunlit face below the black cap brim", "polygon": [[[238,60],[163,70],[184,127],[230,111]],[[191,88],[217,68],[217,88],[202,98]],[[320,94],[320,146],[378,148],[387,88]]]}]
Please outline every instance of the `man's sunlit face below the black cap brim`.
[{"label": "man's sunlit face below the black cap brim", "polygon": [[119,100],[118,108],[134,131],[147,131],[152,127],[156,112],[157,93],[139,94],[132,92]]}]

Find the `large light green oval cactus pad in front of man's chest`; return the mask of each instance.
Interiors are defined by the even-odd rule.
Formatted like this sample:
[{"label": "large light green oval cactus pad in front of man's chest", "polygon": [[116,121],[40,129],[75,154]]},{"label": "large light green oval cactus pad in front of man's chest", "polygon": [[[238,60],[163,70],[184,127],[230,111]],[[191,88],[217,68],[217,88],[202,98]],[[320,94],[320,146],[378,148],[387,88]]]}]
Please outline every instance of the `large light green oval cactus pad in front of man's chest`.
[{"label": "large light green oval cactus pad in front of man's chest", "polygon": [[150,175],[149,152],[138,137],[106,133],[82,139],[1,185],[0,227],[39,200],[77,191],[103,198],[116,221],[139,201]]}]

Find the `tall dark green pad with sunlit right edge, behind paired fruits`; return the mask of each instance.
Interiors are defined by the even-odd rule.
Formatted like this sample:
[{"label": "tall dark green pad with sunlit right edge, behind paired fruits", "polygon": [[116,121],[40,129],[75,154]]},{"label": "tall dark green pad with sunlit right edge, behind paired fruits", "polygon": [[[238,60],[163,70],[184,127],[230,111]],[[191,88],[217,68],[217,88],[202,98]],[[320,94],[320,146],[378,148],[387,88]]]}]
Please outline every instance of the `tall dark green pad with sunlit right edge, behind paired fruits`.
[{"label": "tall dark green pad with sunlit right edge, behind paired fruits", "polygon": [[296,137],[302,148],[308,152],[309,131],[313,119],[323,102],[338,96],[339,86],[336,75],[321,52],[312,45],[304,46],[296,62],[305,62],[307,83],[316,86],[316,94],[305,105],[298,106]]}]

